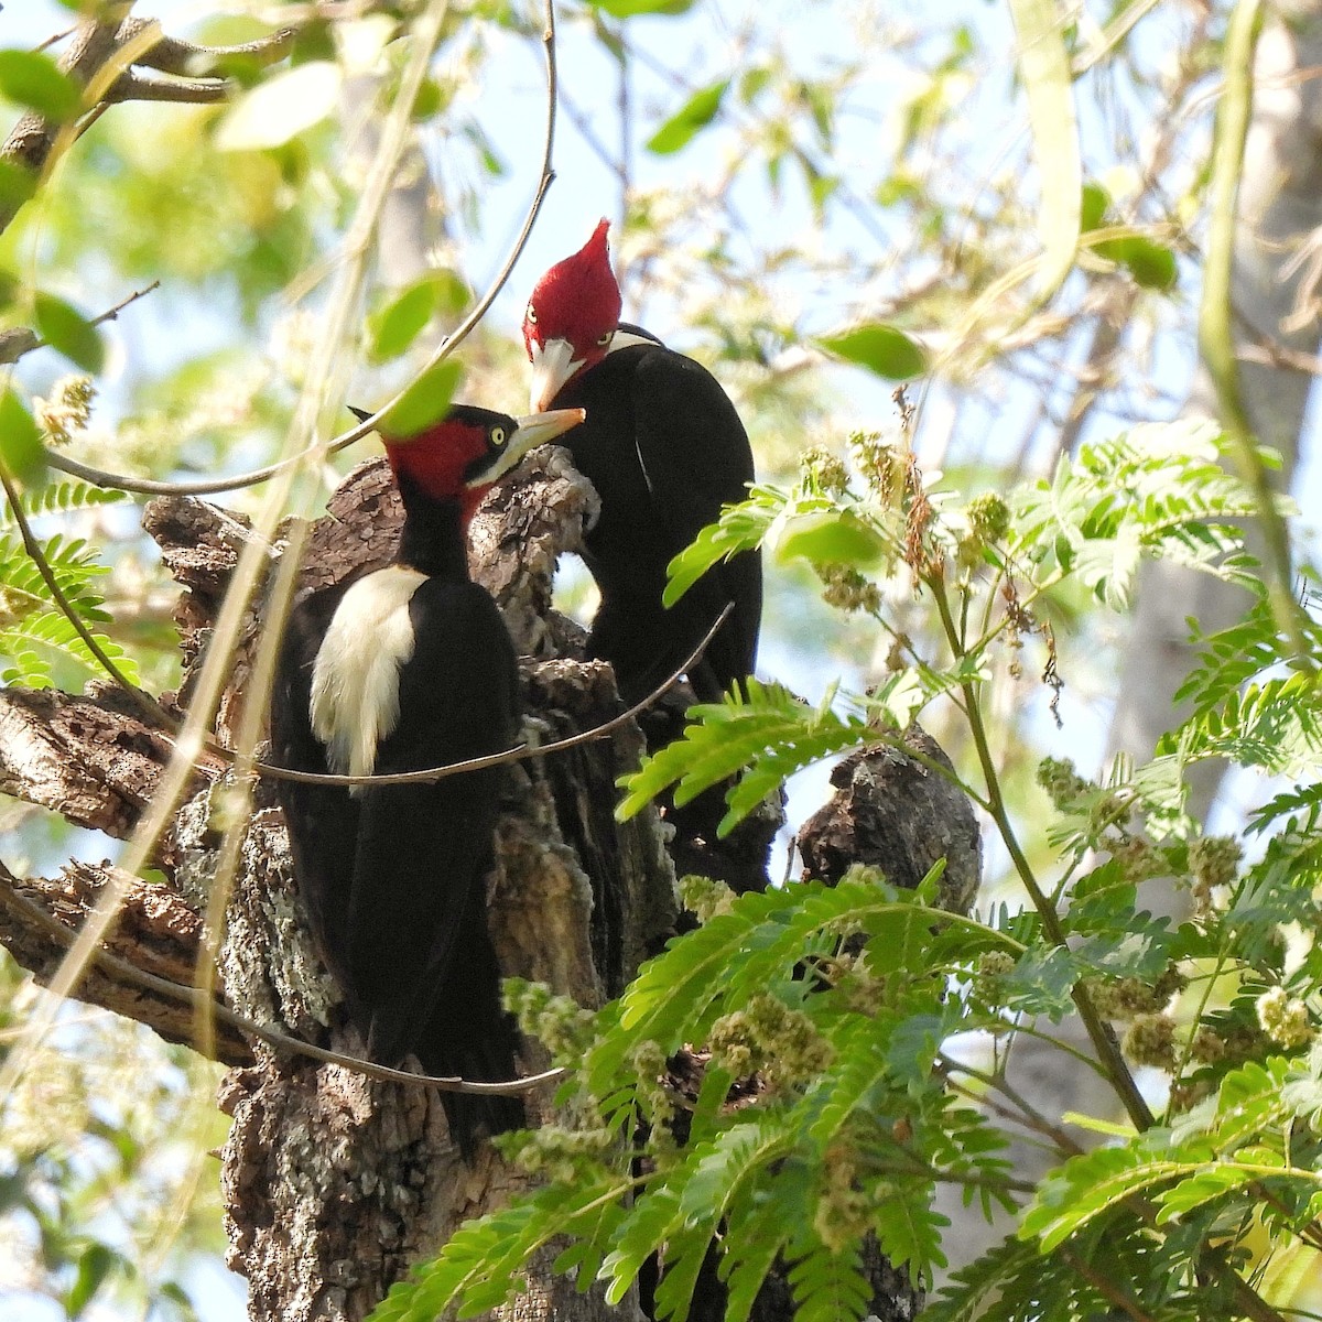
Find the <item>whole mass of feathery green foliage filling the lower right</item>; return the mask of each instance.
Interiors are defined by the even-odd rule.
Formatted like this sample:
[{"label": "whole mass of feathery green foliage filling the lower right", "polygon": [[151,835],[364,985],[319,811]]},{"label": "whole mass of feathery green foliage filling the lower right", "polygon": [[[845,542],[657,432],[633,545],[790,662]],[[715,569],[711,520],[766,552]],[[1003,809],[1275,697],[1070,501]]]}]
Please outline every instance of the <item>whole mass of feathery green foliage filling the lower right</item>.
[{"label": "whole mass of feathery green foliage filling the lower right", "polygon": [[[829,455],[805,455],[797,486],[754,488],[676,558],[672,591],[723,557],[810,524],[791,541],[800,558],[842,557],[858,575],[907,571],[944,621],[945,657],[910,641],[904,662],[866,695],[830,686],[812,705],[754,680],[744,693],[695,706],[682,738],[624,777],[620,814],[664,792],[683,804],[731,781],[727,832],[814,760],[878,743],[906,748],[912,713],[939,701],[953,701],[974,740],[984,738],[989,657],[1002,635],[1031,632],[1034,607],[1071,591],[1124,605],[1142,558],[1252,587],[1237,531],[1252,501],[1218,457],[1207,428],[1137,428],[1081,447],[1051,481],[961,506],[910,456],[873,438],[855,438],[858,476]],[[866,529],[867,539],[834,531],[841,526]],[[816,567],[824,580],[834,572]],[[1206,1298],[1233,1309],[1229,1264],[1255,1218],[1269,1218],[1282,1241],[1305,1243],[1322,1208],[1322,1046],[1313,1047],[1322,956],[1309,947],[1286,962],[1281,932],[1322,921],[1318,686],[1309,673],[1276,669],[1276,623],[1264,605],[1204,648],[1186,694],[1194,714],[1151,763],[1117,763],[1104,784],[1067,761],[1043,763],[1055,813],[1040,830],[1044,875],[1027,861],[1021,867],[1034,899],[1026,914],[943,914],[931,907],[935,873],[914,894],[866,871],[834,887],[808,882],[724,899],[690,887],[702,925],[598,1015],[568,1089],[575,1110],[595,1117],[617,1147],[613,1161],[564,1167],[561,1196],[590,1188],[617,1202],[609,1216],[576,1223],[582,1237],[564,1261],[592,1264],[619,1300],[656,1257],[658,1313],[681,1322],[709,1253],[728,1284],[730,1317],[748,1315],[772,1270],[788,1280],[797,1317],[862,1317],[871,1306],[861,1256],[869,1239],[915,1282],[944,1260],[932,1194],[948,1181],[988,1211],[1030,1196],[1025,1243],[956,1277],[933,1306],[937,1318],[1063,1322],[1103,1310],[1118,1290],[1165,1322],[1203,1315]],[[1207,756],[1297,781],[1260,814],[1252,861],[1235,841],[1199,836],[1185,816],[1183,769]],[[981,764],[985,776],[990,756]],[[995,813],[995,780],[974,788],[944,765],[929,771],[989,805],[1015,841]],[[1083,871],[1097,854],[1103,861]],[[1192,891],[1192,919],[1173,925],[1144,910],[1144,883],[1158,875]],[[1071,879],[1068,894],[1060,876]],[[965,1072],[943,1043],[956,1030],[981,1030],[1003,1058],[1021,1031],[1050,1034],[1080,1005],[1122,1032],[1125,1079],[1114,1060],[1097,1066],[1117,1091],[1130,1068],[1151,1066],[1167,1075],[1171,1100],[1159,1124],[1112,1129],[1112,1142],[1092,1151],[1029,1114],[1058,1154],[1030,1190],[1001,1155],[1001,1129],[948,1083],[988,1088],[1002,1112],[1022,1099],[1002,1091],[999,1069]],[[697,1043],[711,1058],[680,1146],[670,1133],[680,1099],[665,1063]],[[751,1080],[747,1093],[724,1104],[739,1079]],[[535,1154],[568,1141],[555,1133],[522,1140],[520,1159],[542,1169]],[[615,1194],[605,1192],[612,1171],[623,1182]],[[546,1191],[518,1204],[529,1218],[518,1220],[521,1243],[563,1228],[558,1214],[545,1220],[551,1206]],[[461,1231],[447,1253],[477,1261],[501,1224]],[[1100,1276],[1077,1268],[1104,1260],[1114,1265]],[[508,1282],[513,1259],[500,1261],[496,1274]],[[428,1289],[426,1309],[489,1306],[498,1293],[475,1290],[455,1270],[444,1281]],[[397,1311],[382,1315],[420,1317],[420,1303],[402,1310],[424,1288],[401,1288]]]}]

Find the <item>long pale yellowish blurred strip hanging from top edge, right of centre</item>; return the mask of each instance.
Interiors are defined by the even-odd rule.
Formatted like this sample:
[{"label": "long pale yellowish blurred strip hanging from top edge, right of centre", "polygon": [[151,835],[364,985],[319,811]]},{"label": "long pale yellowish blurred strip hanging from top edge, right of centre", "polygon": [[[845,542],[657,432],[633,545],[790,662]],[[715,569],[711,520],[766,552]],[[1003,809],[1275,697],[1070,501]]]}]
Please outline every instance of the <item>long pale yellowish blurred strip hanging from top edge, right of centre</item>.
[{"label": "long pale yellowish blurred strip hanging from top edge, right of centre", "polygon": [[1079,124],[1063,9],[1056,0],[1010,0],[1010,13],[1040,180],[1038,234],[1044,251],[1036,283],[1039,297],[1046,300],[1064,283],[1079,246],[1083,200]]}]

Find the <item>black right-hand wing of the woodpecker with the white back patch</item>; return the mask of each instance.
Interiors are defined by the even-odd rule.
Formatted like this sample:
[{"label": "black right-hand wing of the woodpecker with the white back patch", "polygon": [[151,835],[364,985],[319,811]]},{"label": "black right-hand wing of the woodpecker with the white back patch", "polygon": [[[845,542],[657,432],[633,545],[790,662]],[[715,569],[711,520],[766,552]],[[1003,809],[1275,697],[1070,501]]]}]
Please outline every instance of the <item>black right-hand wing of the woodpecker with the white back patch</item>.
[{"label": "black right-hand wing of the woodpecker with the white back patch", "polygon": [[[408,611],[414,654],[401,669],[399,723],[382,740],[375,771],[440,767],[508,748],[518,726],[518,674],[492,599],[471,583],[427,579]],[[475,1003],[443,1002],[456,990],[455,968],[467,966],[479,945],[481,966],[488,962],[484,879],[500,788],[494,768],[360,797],[345,964],[382,1060],[414,1050],[434,1014],[453,1021],[460,1043],[480,1036],[479,1021],[489,1018]],[[476,966],[473,976],[493,982]],[[435,1040],[435,1026],[426,1035]],[[449,1067],[461,1072],[457,1062]]]}]

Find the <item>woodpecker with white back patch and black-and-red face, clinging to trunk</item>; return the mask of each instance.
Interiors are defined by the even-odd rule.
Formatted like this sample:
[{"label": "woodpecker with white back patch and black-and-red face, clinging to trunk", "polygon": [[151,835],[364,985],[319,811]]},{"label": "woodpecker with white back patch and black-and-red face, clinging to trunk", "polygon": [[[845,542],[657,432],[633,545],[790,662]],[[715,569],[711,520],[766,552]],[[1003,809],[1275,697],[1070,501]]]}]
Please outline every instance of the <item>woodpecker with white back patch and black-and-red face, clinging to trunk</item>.
[{"label": "woodpecker with white back patch and black-and-red face, clinging to trunk", "polygon": [[[280,765],[365,776],[514,743],[514,646],[469,580],[468,522],[498,477],[582,418],[460,405],[416,436],[382,438],[405,506],[398,558],[295,602],[271,697]],[[500,777],[489,768],[379,788],[278,781],[313,936],[382,1064],[414,1052],[431,1075],[514,1076],[484,888]],[[522,1124],[513,1097],[442,1100],[465,1154],[480,1130]]]}]

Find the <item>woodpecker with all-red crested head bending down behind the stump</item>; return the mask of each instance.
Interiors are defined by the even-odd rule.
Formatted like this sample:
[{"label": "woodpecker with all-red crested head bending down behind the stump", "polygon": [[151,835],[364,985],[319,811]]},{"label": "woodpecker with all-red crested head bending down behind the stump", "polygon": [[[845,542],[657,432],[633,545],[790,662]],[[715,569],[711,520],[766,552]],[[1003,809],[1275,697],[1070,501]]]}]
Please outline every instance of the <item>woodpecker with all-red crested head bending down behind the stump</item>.
[{"label": "woodpecker with all-red crested head bending down behind the stump", "polygon": [[761,623],[761,559],[746,551],[709,570],[670,609],[666,564],[746,497],[752,449],[730,397],[706,368],[620,321],[620,287],[602,221],[538,280],[524,315],[534,408],[584,408],[564,439],[602,497],[584,559],[602,604],[588,653],[615,668],[627,702],[646,697],[730,617],[689,669],[705,702],[752,673]]}]

